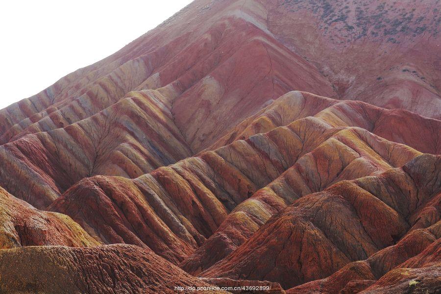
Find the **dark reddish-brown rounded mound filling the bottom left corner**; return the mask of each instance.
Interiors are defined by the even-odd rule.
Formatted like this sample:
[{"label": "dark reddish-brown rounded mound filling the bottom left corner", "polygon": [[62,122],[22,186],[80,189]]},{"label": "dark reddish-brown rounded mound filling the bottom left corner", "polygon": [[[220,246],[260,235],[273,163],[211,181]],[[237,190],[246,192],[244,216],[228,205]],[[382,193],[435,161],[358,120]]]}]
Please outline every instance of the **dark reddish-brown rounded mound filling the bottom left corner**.
[{"label": "dark reddish-brown rounded mound filling the bottom left corner", "polygon": [[0,272],[2,293],[176,293],[175,287],[193,293],[187,287],[213,287],[134,245],[0,250]]}]

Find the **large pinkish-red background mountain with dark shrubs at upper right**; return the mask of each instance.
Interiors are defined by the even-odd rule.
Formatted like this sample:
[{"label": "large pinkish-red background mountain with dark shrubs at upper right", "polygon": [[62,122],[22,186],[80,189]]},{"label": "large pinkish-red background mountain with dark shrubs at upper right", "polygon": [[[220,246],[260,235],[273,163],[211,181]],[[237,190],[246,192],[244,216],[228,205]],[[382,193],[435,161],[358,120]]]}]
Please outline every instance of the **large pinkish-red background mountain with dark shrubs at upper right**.
[{"label": "large pinkish-red background mountain with dark shrubs at upper right", "polygon": [[2,110],[2,142],[74,123],[139,89],[160,88],[176,102],[176,123],[195,151],[289,90],[333,97],[333,86],[340,98],[440,118],[435,2],[197,0]]}]

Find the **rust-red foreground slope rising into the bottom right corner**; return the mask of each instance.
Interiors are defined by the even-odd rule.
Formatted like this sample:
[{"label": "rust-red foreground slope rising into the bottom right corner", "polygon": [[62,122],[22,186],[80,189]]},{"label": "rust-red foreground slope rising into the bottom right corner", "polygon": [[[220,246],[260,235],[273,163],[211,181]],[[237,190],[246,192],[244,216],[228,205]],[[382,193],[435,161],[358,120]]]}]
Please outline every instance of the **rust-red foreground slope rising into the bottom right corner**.
[{"label": "rust-red foreground slope rising into the bottom right corner", "polygon": [[[433,271],[435,278],[429,276],[426,280],[424,274],[419,276],[418,274],[415,275],[418,270],[411,270],[410,268],[418,269],[429,268],[434,265],[437,266],[436,260],[439,259],[440,254],[437,250],[439,251],[441,245],[440,234],[441,222],[438,221],[429,228],[412,231],[396,245],[386,247],[364,261],[349,263],[327,278],[305,283],[289,289],[287,292],[292,294],[350,293],[350,291],[362,291],[371,285],[373,286],[368,288],[367,293],[370,293],[370,291],[373,293],[375,293],[375,291],[382,293],[386,291],[384,288],[388,288],[388,286],[392,286],[391,288],[401,288],[403,292],[409,289],[413,291],[416,291],[416,289],[422,290],[424,288],[431,290],[431,288],[435,287],[430,287],[430,283],[436,283],[436,280],[440,277],[440,272]],[[404,268],[407,269],[405,270]],[[432,270],[419,269],[419,271]],[[407,277],[403,279],[401,275],[407,275]],[[395,279],[398,278],[392,283],[389,282],[388,285],[387,281],[392,277]],[[378,282],[376,282],[377,279],[379,279]],[[401,281],[396,283],[397,280],[399,281],[401,279],[406,280],[407,285],[404,285],[405,282],[403,283]],[[412,283],[409,284],[409,281],[412,280],[417,281],[417,283],[415,283],[415,285],[412,285]],[[422,280],[423,283],[420,283]],[[429,285],[424,285],[427,282],[429,282]],[[396,284],[399,284],[399,286]],[[388,291],[392,291],[392,289],[388,289]],[[398,290],[396,289],[396,291]]]}]

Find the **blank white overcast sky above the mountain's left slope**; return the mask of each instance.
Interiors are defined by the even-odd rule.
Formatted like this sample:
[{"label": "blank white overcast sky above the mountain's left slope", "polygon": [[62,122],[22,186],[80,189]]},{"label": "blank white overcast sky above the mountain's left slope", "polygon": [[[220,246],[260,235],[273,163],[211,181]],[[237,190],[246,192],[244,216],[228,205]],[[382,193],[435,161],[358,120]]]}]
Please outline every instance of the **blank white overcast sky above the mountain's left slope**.
[{"label": "blank white overcast sky above the mountain's left slope", "polygon": [[123,48],[191,0],[1,0],[0,109]]}]

